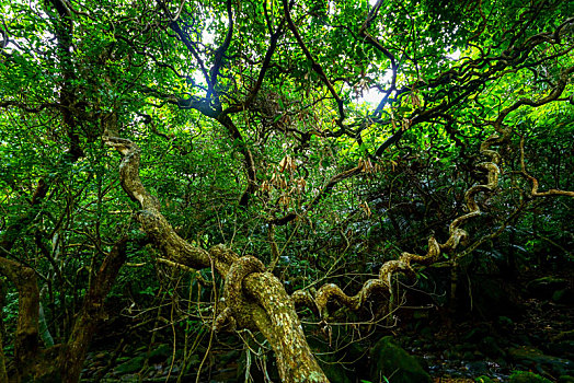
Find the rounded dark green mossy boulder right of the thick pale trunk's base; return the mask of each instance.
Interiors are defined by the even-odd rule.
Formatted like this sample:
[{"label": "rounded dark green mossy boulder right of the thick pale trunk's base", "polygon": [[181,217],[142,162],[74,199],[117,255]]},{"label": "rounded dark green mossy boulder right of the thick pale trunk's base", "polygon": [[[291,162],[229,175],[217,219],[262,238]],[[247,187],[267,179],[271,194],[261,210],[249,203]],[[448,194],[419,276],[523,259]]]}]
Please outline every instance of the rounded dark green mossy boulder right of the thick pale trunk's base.
[{"label": "rounded dark green mossy boulder right of the thick pale trunk's base", "polygon": [[381,338],[370,350],[371,381],[390,383],[432,383],[416,358],[393,343],[392,336]]}]

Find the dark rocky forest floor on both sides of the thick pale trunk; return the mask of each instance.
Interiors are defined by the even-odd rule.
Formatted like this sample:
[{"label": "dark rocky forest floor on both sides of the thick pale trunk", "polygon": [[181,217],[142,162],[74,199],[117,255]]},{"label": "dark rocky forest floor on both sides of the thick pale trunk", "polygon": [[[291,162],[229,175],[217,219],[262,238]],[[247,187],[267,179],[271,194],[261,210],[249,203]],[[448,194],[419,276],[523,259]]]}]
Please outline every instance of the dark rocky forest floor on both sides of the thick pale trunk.
[{"label": "dark rocky forest floor on both sides of the thick pale trunk", "polygon": [[[449,311],[423,313],[401,321],[403,324],[391,334],[398,345],[416,357],[434,382],[489,382],[478,380],[479,376],[507,382],[515,371],[531,371],[551,382],[574,382],[573,274],[536,272],[523,276],[517,285],[518,294],[501,290],[502,301],[492,301],[493,297],[477,299],[475,310],[462,315],[464,310],[460,307],[458,315]],[[503,309],[508,297],[513,302],[506,313]],[[118,337],[119,333],[112,338],[117,343]],[[168,339],[157,339],[152,347],[134,340],[126,338],[119,346],[99,343],[89,355],[82,381],[176,382],[179,375],[182,382],[195,381],[192,371],[202,364],[204,347],[187,359],[184,373],[182,352],[174,350]],[[210,373],[199,382],[244,382],[244,365],[249,361],[242,358],[244,352],[237,348],[213,349],[203,361]],[[254,365],[257,361],[252,362]],[[352,365],[347,371],[342,382],[366,381],[364,376],[354,376]],[[276,381],[273,371],[268,375]],[[253,376],[255,382],[261,379]]]}]

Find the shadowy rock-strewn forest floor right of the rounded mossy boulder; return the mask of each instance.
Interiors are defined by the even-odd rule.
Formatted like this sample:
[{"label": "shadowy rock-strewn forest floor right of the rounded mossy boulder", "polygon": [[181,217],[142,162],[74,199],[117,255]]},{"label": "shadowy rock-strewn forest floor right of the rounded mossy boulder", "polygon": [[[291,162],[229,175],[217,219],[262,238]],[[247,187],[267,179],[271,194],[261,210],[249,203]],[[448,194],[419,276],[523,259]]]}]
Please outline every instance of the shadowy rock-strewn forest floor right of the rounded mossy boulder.
[{"label": "shadowy rock-strewn forest floor right of the rounded mossy boulder", "polygon": [[489,315],[489,302],[479,300],[483,313],[432,317],[426,326],[403,332],[402,346],[424,360],[435,382],[473,382],[479,376],[507,382],[514,371],[574,382],[574,274],[530,272],[516,287],[515,294],[502,290],[503,298],[512,297],[504,314],[496,313],[504,299],[491,302],[494,312]]}]

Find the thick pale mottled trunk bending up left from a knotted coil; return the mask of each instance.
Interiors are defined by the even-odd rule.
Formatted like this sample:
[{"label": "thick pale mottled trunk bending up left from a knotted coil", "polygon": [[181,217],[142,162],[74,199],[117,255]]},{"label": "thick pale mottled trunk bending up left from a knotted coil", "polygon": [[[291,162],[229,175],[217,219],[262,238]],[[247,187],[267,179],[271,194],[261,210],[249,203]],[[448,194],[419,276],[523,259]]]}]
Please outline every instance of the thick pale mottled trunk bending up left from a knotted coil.
[{"label": "thick pale mottled trunk bending up left from a knotted coil", "polygon": [[160,204],[139,178],[139,147],[130,140],[105,137],[104,142],[122,154],[119,178],[127,195],[142,210],[137,214],[141,228],[164,257],[192,268],[211,267],[226,278],[222,306],[218,304],[213,328],[260,330],[277,358],[283,382],[328,382],[314,359],[295,305],[283,283],[255,257],[240,257],[223,245],[209,251],[192,246],[177,235],[160,211]]}]

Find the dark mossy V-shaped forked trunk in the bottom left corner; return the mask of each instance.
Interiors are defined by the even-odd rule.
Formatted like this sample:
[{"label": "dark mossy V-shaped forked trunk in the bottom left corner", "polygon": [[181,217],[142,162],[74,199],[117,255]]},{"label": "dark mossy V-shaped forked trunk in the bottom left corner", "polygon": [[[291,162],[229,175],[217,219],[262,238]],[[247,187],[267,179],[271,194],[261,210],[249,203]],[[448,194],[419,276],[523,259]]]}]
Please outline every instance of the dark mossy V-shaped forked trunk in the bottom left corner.
[{"label": "dark mossy V-shaped forked trunk in the bottom left corner", "polygon": [[[88,289],[68,340],[45,350],[41,350],[38,344],[39,290],[36,274],[32,268],[15,260],[0,257],[0,274],[7,276],[19,292],[14,365],[4,374],[7,379],[20,382],[26,376],[34,376],[66,383],[80,380],[88,348],[96,333],[97,324],[104,316],[104,299],[112,290],[125,263],[126,243],[126,239],[119,240],[102,262]],[[0,382],[1,378],[0,369]]]}]

